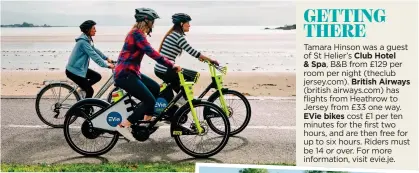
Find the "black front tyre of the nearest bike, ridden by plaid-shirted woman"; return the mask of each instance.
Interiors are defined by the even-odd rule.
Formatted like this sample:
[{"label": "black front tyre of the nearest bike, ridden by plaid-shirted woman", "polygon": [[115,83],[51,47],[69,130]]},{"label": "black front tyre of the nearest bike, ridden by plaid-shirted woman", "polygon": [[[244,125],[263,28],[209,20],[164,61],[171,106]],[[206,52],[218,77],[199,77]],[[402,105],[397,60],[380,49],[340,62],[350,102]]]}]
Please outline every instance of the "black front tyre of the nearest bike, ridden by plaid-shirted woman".
[{"label": "black front tyre of the nearest bike, ridden by plaid-shirted woman", "polygon": [[[230,122],[228,120],[228,117],[226,116],[226,114],[223,112],[223,110],[221,108],[219,108],[217,105],[207,102],[207,101],[202,101],[202,100],[194,100],[192,102],[193,107],[197,107],[197,106],[204,106],[204,107],[208,107],[208,108],[212,108],[214,109],[219,115],[221,115],[222,119],[223,119],[223,123],[224,123],[224,127],[225,127],[225,131],[226,132],[230,132]],[[172,122],[172,128],[175,128],[175,126],[179,126],[179,122],[182,121],[182,116],[184,116],[191,110],[189,104],[186,104],[184,106],[182,106],[181,108],[179,108],[179,110],[176,113],[176,116]],[[183,124],[183,123],[181,123]],[[221,134],[223,137],[221,143],[213,150],[211,150],[210,152],[207,153],[196,153],[194,151],[189,150],[188,148],[185,147],[185,145],[183,145],[180,136],[173,136],[176,144],[179,146],[179,148],[185,152],[186,154],[195,157],[195,158],[208,158],[211,156],[216,155],[217,153],[219,153],[226,145],[227,142],[229,140],[229,134]]]}]

